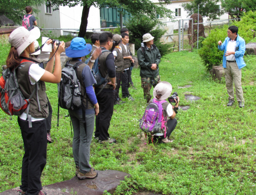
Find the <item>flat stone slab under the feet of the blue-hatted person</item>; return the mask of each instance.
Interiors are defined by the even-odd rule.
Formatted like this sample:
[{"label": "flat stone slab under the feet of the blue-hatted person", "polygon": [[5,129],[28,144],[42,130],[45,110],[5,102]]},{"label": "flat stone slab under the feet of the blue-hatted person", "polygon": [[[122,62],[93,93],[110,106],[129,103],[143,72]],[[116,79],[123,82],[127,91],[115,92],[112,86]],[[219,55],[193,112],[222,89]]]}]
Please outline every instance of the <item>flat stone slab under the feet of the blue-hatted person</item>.
[{"label": "flat stone slab under the feet of the blue-hatted person", "polygon": [[[102,195],[105,190],[109,193],[114,193],[116,187],[120,184],[125,176],[130,176],[127,173],[118,170],[97,170],[98,176],[94,179],[79,180],[74,176],[70,180],[53,183],[43,187],[43,191],[50,195],[68,195],[68,194],[93,194]],[[6,190],[1,195],[17,195],[17,188]]]}]

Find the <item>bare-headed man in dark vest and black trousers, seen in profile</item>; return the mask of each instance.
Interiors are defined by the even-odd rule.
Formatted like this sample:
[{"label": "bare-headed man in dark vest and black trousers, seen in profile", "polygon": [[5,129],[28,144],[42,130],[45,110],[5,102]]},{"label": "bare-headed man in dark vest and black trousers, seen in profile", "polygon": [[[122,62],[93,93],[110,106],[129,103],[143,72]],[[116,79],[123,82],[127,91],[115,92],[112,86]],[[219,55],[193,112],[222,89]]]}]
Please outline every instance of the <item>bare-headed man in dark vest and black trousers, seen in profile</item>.
[{"label": "bare-headed man in dark vest and black trousers, seen in profile", "polygon": [[[115,88],[116,88],[116,67],[114,61],[114,55],[112,53],[113,47],[113,35],[110,32],[103,32],[99,35],[99,44],[102,50],[108,50],[102,53],[98,62],[101,64],[99,66],[99,73],[102,77],[107,77],[108,84],[106,87],[98,94],[99,90],[102,89],[103,85],[95,88],[95,94],[98,100],[99,113],[95,120],[95,139],[99,143],[115,143],[116,140],[109,138],[108,128],[110,125],[110,120],[114,111],[114,98],[115,98]],[[90,60],[91,61],[91,60]],[[94,61],[91,61],[94,63]]]}]

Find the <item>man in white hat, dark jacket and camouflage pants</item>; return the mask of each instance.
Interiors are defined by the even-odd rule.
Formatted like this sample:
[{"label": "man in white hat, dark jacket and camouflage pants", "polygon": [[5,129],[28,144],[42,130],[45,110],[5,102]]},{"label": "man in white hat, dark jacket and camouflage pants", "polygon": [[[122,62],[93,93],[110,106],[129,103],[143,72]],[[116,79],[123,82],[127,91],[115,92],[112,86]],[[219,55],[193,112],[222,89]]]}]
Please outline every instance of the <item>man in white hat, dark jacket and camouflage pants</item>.
[{"label": "man in white hat, dark jacket and camouflage pants", "polygon": [[138,63],[140,65],[141,87],[143,88],[144,99],[147,103],[151,99],[150,89],[161,82],[159,76],[159,63],[161,62],[161,54],[154,43],[154,37],[147,33],[143,35],[143,43],[137,51]]}]

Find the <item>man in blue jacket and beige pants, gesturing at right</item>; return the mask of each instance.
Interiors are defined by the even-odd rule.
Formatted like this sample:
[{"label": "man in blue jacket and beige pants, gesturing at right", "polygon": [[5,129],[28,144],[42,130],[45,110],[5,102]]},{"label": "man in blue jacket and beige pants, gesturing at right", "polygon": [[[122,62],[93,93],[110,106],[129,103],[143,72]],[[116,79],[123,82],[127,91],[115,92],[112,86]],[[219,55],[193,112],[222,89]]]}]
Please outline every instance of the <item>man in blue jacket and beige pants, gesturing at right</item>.
[{"label": "man in blue jacket and beige pants, gesturing at right", "polygon": [[246,42],[241,37],[239,37],[238,27],[230,26],[227,32],[228,37],[225,39],[224,43],[218,41],[218,49],[220,51],[224,50],[222,61],[225,70],[226,87],[229,96],[227,106],[232,106],[233,102],[235,102],[233,90],[234,83],[239,107],[243,108],[244,100],[243,89],[241,84],[241,68],[246,66],[246,64],[243,61],[243,55],[244,52],[246,51]]}]

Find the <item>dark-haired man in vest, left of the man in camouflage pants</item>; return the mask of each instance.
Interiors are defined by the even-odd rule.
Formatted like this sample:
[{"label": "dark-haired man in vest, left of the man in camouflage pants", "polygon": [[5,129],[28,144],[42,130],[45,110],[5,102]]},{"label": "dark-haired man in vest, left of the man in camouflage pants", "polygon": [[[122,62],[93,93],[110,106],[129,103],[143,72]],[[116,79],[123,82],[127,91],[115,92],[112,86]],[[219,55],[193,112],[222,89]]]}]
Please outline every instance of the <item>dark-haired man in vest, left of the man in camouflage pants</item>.
[{"label": "dark-haired man in vest, left of the man in camouflage pants", "polygon": [[129,74],[130,74],[130,67],[131,67],[131,62],[134,62],[132,59],[132,56],[130,55],[130,49],[127,46],[127,43],[129,43],[129,35],[125,32],[121,33],[122,36],[122,42],[120,43],[120,47],[124,56],[124,62],[125,62],[125,70],[121,76],[121,87],[122,87],[122,95],[123,98],[128,97],[129,100],[134,101],[132,96],[129,93],[128,90],[128,84],[129,84]]}]

